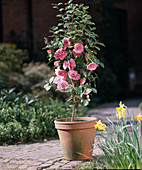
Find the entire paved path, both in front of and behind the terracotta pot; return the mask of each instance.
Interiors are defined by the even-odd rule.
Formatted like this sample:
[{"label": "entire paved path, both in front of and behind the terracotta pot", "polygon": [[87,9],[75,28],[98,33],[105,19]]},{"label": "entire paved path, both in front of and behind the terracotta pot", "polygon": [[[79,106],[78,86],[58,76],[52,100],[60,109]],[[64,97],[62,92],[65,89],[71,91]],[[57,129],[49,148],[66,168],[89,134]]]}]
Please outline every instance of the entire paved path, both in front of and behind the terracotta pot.
[{"label": "entire paved path, both in front of and behind the terracotta pot", "polygon": [[[138,104],[142,100],[124,101],[128,106],[129,112],[132,110],[138,114],[140,108]],[[106,117],[115,121],[116,103],[102,104],[95,109],[90,109],[88,114],[95,116],[105,122]],[[98,138],[97,131],[96,140]],[[93,155],[99,155],[100,151],[94,149]],[[84,161],[67,161],[63,157],[59,140],[50,140],[41,143],[0,146],[0,170],[9,169],[73,169],[76,164],[83,164]]]}]

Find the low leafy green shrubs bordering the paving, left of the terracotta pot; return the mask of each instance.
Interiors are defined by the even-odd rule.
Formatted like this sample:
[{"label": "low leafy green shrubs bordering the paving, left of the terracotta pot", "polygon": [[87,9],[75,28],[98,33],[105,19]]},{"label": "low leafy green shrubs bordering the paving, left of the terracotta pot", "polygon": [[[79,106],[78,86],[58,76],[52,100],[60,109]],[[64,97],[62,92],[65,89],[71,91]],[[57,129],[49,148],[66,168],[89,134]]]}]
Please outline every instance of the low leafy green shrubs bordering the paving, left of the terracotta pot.
[{"label": "low leafy green shrubs bordering the paving, left of the terracotta pot", "polygon": [[[80,106],[78,115],[84,116]],[[0,145],[56,137],[54,120],[71,115],[71,108],[61,100],[23,96],[14,89],[0,91]]]}]

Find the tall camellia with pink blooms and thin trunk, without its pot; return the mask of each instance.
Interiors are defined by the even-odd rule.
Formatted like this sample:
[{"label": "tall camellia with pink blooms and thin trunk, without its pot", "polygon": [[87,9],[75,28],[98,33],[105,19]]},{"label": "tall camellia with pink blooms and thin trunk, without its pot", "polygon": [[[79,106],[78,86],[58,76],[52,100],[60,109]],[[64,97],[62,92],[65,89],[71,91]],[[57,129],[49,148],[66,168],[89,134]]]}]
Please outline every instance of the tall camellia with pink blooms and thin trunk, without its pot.
[{"label": "tall camellia with pink blooms and thin trunk, without its pot", "polygon": [[53,4],[53,8],[59,11],[59,23],[50,30],[52,40],[49,42],[45,38],[44,49],[47,49],[49,62],[54,61],[56,75],[44,87],[47,91],[56,87],[58,91],[68,94],[68,102],[73,105],[71,121],[74,121],[78,105],[82,103],[87,106],[89,95],[97,93],[96,69],[104,67],[97,53],[104,44],[95,33],[89,6],[69,0],[67,3]]}]

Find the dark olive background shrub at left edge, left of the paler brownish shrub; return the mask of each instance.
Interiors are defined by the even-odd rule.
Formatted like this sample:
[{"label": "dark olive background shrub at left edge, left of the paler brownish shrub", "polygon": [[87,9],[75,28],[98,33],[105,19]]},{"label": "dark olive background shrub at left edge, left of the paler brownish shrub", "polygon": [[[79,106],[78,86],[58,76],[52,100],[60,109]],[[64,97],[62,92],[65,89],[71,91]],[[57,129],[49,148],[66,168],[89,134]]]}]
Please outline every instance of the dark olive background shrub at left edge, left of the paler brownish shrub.
[{"label": "dark olive background shrub at left edge, left of the paler brownish shrub", "polygon": [[14,77],[22,74],[22,64],[27,59],[26,50],[16,49],[15,44],[0,43],[0,87],[20,86]]}]

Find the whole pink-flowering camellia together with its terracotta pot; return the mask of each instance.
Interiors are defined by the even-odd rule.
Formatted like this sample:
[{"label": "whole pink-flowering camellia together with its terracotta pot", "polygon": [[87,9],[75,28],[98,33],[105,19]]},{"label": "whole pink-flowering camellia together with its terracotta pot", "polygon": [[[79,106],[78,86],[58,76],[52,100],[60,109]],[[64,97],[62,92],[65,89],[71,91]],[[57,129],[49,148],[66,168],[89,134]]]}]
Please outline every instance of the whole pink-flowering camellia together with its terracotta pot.
[{"label": "whole pink-flowering camellia together with its terracotta pot", "polygon": [[85,160],[92,157],[97,118],[75,117],[80,103],[89,104],[91,92],[97,93],[95,70],[103,63],[96,57],[99,46],[104,46],[94,32],[95,23],[89,15],[88,6],[66,3],[53,4],[59,10],[60,22],[50,30],[52,40],[45,38],[49,61],[54,61],[55,76],[44,88],[52,86],[68,93],[72,105],[72,117],[55,120],[64,157],[67,160]]}]

